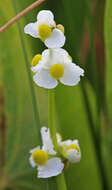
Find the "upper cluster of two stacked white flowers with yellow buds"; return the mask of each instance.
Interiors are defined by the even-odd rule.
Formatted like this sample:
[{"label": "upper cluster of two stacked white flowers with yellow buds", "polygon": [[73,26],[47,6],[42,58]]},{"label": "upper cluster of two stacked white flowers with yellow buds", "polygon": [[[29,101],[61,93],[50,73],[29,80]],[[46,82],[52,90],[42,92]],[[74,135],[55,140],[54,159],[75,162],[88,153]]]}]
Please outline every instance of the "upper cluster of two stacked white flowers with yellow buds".
[{"label": "upper cluster of two stacked white flowers with yellow buds", "polygon": [[43,10],[37,15],[37,21],[24,28],[25,33],[40,38],[49,48],[37,54],[32,60],[34,82],[47,89],[55,88],[59,82],[74,86],[84,75],[84,70],[72,62],[71,56],[61,47],[65,43],[64,27],[56,25],[51,11]]}]

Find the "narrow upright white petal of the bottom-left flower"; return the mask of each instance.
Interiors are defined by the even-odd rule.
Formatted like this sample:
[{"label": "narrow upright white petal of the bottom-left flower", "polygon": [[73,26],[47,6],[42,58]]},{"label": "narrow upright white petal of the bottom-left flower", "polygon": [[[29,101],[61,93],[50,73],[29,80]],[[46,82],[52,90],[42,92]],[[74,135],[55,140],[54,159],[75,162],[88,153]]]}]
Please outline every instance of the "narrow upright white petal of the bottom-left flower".
[{"label": "narrow upright white petal of the bottom-left flower", "polygon": [[55,155],[56,152],[54,151],[54,145],[53,145],[51,137],[50,137],[49,128],[42,127],[41,128],[41,136],[42,136],[42,142],[43,142],[42,149],[44,151],[48,152],[48,154]]}]

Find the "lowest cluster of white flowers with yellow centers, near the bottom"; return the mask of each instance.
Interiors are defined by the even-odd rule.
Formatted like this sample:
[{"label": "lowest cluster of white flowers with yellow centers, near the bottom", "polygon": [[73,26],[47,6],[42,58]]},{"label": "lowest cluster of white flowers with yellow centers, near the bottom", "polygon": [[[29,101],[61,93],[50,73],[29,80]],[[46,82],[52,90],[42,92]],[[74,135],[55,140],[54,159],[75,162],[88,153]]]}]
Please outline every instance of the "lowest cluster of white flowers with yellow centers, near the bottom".
[{"label": "lowest cluster of white flowers with yellow centers, near the bottom", "polygon": [[80,161],[81,152],[78,140],[62,141],[60,134],[57,133],[58,149],[55,151],[50,132],[47,127],[41,128],[43,146],[37,146],[30,150],[30,164],[37,167],[38,178],[49,178],[59,175],[65,162],[76,163]]}]

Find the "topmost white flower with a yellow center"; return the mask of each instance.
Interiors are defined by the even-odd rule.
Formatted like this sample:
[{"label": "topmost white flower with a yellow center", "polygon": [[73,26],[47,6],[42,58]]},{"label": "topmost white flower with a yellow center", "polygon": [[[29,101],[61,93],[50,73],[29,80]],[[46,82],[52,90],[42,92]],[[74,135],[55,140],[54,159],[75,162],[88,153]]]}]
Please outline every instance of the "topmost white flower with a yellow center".
[{"label": "topmost white flower with a yellow center", "polygon": [[65,36],[62,28],[58,28],[52,12],[42,10],[37,15],[37,21],[27,24],[24,32],[34,38],[40,38],[48,48],[60,48],[64,46]]}]

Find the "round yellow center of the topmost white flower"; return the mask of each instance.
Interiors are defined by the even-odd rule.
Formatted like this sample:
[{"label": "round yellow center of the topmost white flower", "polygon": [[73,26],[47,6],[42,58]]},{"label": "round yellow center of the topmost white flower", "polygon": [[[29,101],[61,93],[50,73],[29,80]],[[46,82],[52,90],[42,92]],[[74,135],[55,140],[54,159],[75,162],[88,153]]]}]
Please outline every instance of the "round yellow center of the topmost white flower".
[{"label": "round yellow center of the topmost white flower", "polygon": [[51,28],[46,24],[42,24],[38,28],[38,34],[42,38],[42,40],[48,38],[51,35],[51,32]]}]

